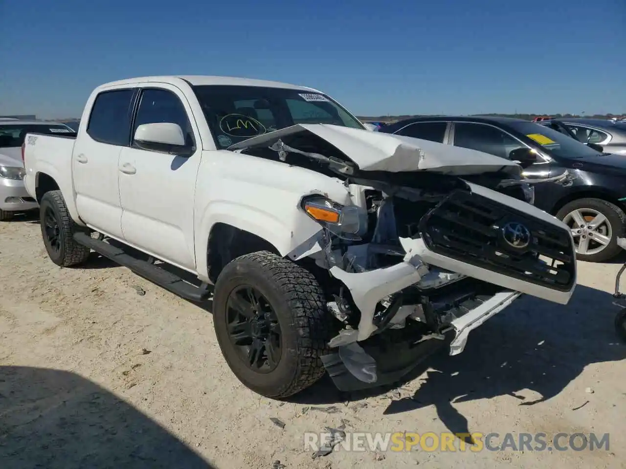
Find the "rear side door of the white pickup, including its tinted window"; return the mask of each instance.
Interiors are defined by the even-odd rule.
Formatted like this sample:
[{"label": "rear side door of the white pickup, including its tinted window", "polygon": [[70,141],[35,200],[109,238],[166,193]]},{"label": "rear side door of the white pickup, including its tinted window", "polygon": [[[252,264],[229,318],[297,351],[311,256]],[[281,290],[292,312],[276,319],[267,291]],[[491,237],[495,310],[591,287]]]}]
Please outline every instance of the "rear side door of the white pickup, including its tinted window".
[{"label": "rear side door of the white pickup, including its tinted window", "polygon": [[76,207],[81,219],[108,235],[121,238],[118,161],[130,140],[134,89],[105,91],[96,96],[86,129],[72,155]]}]

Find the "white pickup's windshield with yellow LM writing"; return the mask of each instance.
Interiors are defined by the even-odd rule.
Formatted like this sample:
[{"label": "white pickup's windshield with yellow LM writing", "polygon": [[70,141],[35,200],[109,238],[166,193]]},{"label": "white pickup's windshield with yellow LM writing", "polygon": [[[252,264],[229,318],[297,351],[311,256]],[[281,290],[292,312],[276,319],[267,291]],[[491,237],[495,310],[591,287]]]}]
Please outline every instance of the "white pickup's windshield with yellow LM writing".
[{"label": "white pickup's windshield with yellow LM writing", "polygon": [[346,109],[321,93],[262,86],[194,86],[217,148],[294,124],[362,129]]}]

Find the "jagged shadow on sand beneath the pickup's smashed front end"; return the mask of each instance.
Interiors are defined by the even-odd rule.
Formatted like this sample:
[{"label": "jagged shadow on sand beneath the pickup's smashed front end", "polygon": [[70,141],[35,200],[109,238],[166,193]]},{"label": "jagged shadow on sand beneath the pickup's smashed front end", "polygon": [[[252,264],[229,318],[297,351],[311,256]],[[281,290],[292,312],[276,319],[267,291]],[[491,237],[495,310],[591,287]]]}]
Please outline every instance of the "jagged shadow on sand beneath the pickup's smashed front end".
[{"label": "jagged shadow on sand beneath the pickup's smashed front end", "polygon": [[[432,405],[449,431],[469,433],[467,419],[452,403],[509,395],[518,398],[520,405],[533,405],[553,398],[585,366],[626,358],[626,345],[618,341],[613,326],[618,308],[612,301],[608,293],[582,285],[567,306],[530,296],[520,298],[472,331],[460,355],[448,356],[443,350],[421,363],[398,383],[403,385],[431,368],[418,391],[391,401],[384,413]],[[294,396],[294,401],[319,405],[346,400],[329,381],[325,378]],[[350,397],[380,395],[389,389]],[[526,389],[541,397],[527,400],[519,394]]]}]

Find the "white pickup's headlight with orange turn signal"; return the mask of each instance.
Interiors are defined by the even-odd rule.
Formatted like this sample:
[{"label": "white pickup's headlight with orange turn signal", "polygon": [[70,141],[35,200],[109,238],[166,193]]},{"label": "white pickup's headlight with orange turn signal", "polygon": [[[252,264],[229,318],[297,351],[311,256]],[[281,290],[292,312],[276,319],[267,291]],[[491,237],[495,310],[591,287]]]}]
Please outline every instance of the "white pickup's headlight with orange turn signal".
[{"label": "white pickup's headlight with orange turn signal", "polygon": [[367,229],[367,213],[357,206],[344,206],[314,196],[304,199],[302,208],[310,218],[344,240],[361,240],[361,229]]}]

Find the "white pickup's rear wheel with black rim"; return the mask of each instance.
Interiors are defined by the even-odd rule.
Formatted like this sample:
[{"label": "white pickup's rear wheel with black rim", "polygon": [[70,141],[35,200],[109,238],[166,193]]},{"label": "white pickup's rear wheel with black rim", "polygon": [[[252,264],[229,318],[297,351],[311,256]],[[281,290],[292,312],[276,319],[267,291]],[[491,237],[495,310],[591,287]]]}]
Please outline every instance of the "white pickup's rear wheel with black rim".
[{"label": "white pickup's rear wheel with black rim", "polygon": [[51,261],[62,267],[85,262],[90,249],[74,241],[80,226],[74,223],[61,191],[46,192],[39,203],[41,236]]}]

